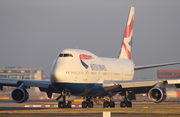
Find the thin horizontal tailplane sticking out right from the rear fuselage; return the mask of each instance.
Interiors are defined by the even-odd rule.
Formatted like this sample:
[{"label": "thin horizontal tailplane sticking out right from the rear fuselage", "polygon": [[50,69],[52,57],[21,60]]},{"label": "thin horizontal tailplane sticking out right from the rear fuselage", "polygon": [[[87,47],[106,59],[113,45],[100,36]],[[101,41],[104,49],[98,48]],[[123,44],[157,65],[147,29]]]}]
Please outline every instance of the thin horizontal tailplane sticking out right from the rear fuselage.
[{"label": "thin horizontal tailplane sticking out right from the rear fuselage", "polygon": [[162,67],[162,66],[176,65],[176,64],[180,64],[180,62],[135,66],[134,70],[141,70],[141,69],[154,68],[154,67]]}]

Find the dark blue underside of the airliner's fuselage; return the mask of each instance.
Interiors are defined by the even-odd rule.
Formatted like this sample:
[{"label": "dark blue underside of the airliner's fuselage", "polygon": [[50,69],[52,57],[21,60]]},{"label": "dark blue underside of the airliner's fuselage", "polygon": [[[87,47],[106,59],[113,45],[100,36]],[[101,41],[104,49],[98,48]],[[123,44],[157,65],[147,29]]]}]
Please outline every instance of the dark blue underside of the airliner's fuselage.
[{"label": "dark blue underside of the airliner's fuselage", "polygon": [[52,83],[53,87],[58,90],[68,89],[72,95],[107,95],[102,84],[95,83]]}]

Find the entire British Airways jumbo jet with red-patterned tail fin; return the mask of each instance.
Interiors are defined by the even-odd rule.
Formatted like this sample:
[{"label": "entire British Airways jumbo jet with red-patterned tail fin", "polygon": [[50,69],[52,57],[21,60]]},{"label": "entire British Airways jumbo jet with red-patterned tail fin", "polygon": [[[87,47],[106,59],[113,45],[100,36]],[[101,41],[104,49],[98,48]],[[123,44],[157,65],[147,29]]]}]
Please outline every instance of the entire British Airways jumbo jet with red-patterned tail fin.
[{"label": "entire British Airways jumbo jet with red-patterned tail fin", "polygon": [[52,93],[59,93],[56,99],[59,108],[71,108],[70,95],[82,96],[82,108],[93,108],[92,99],[106,98],[103,107],[115,107],[112,96],[119,94],[124,101],[120,107],[132,107],[131,100],[136,94],[148,93],[149,99],[159,103],[166,99],[166,85],[175,84],[180,88],[180,79],[133,80],[134,71],[180,64],[180,62],[135,66],[131,59],[131,47],[134,23],[134,7],[131,7],[124,39],[117,58],[102,58],[86,50],[65,49],[56,57],[52,69],[51,80],[25,80],[0,78],[0,89],[3,86],[17,87],[12,91],[12,99],[17,103],[28,100],[27,88],[39,87],[51,98]]}]

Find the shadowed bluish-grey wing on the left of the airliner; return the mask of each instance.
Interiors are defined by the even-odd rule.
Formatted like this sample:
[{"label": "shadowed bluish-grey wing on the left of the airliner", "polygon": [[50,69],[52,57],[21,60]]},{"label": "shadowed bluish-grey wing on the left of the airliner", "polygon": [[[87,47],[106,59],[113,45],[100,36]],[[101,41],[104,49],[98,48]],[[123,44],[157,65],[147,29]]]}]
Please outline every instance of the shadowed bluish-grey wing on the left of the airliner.
[{"label": "shadowed bluish-grey wing on the left of the airliner", "polygon": [[2,90],[3,86],[19,87],[23,83],[25,87],[38,87],[40,91],[47,92],[47,90],[51,90],[52,93],[57,93],[52,87],[51,81],[47,80],[0,78],[0,89]]}]

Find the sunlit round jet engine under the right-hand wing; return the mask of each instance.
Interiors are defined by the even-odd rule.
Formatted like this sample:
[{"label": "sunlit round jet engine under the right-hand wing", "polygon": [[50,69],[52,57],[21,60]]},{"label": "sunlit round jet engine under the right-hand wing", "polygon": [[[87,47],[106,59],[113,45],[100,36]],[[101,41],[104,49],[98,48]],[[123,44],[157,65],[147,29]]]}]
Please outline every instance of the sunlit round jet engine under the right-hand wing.
[{"label": "sunlit round jet engine under the right-hand wing", "polygon": [[166,99],[167,94],[163,89],[155,87],[149,90],[148,97],[151,101],[159,103],[163,102]]}]

